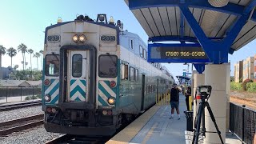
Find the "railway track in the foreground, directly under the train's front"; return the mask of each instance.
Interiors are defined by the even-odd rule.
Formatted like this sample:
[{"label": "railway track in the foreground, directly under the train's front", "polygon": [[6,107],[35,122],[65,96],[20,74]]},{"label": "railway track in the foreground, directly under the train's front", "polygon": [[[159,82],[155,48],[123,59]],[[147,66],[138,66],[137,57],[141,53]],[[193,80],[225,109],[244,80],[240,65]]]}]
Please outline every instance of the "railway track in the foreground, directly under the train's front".
[{"label": "railway track in the foreground, directly under the train's front", "polygon": [[61,137],[54,138],[46,142],[46,144],[57,144],[57,143],[92,143],[92,144],[102,144],[107,142],[110,137],[88,137],[88,136],[78,136],[78,135],[70,135],[65,134]]}]

